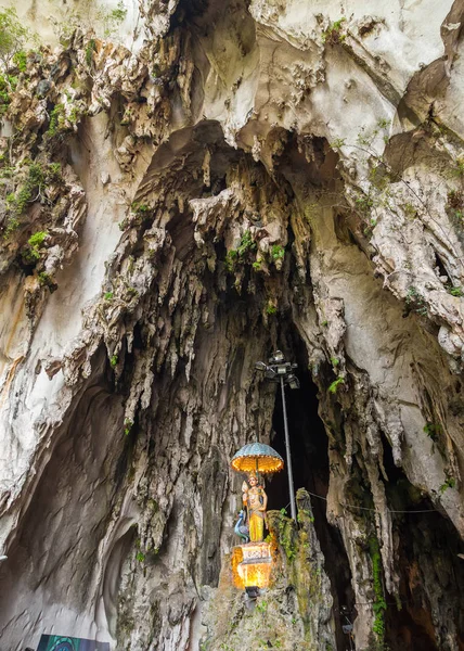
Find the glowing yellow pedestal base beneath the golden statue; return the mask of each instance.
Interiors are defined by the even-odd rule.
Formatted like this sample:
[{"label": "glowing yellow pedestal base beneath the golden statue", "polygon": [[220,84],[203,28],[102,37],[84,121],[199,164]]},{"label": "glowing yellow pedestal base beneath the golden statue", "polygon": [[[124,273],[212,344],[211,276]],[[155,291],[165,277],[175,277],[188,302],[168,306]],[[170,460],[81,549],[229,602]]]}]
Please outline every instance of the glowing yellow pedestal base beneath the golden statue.
[{"label": "glowing yellow pedestal base beneath the golden statue", "polygon": [[272,571],[269,542],[247,542],[232,550],[232,573],[236,588],[267,588]]}]

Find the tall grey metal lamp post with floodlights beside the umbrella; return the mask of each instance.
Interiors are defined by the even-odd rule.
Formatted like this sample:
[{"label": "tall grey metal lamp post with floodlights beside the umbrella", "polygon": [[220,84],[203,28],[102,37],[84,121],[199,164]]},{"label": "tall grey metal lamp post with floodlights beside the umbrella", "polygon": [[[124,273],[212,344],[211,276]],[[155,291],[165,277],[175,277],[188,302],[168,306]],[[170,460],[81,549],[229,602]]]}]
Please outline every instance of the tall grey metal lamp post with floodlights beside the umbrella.
[{"label": "tall grey metal lamp post with floodlights beside the umbrella", "polygon": [[287,408],[285,404],[285,384],[288,384],[291,388],[299,388],[298,378],[294,371],[298,367],[296,363],[285,361],[285,357],[281,350],[270,357],[269,363],[265,361],[257,361],[255,368],[257,371],[265,373],[266,380],[275,382],[281,385],[282,393],[282,408],[284,414],[284,431],[285,431],[285,452],[287,458],[287,472],[288,472],[288,489],[291,496],[291,513],[292,519],[296,521],[296,503],[295,503],[295,489],[293,485],[293,470],[292,470],[292,455],[288,435],[288,422],[287,422]]}]

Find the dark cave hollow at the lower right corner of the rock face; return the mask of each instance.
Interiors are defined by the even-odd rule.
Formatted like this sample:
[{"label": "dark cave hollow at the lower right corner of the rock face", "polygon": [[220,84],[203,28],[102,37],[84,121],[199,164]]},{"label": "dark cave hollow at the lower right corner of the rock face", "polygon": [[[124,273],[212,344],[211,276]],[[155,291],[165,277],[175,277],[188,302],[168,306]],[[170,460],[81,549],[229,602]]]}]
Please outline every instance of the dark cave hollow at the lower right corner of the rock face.
[{"label": "dark cave hollow at the lower right corner of the rock face", "polygon": [[[391,447],[383,439],[386,493],[394,514],[397,569],[400,573],[398,603],[388,599],[387,643],[391,651],[438,651],[430,595],[441,592],[456,627],[457,649],[464,649],[464,563],[459,558],[463,544],[452,522],[429,497],[409,482],[394,462]],[[438,601],[441,601],[439,599]],[[440,618],[444,624],[444,613]],[[447,625],[444,624],[444,627]]]}]

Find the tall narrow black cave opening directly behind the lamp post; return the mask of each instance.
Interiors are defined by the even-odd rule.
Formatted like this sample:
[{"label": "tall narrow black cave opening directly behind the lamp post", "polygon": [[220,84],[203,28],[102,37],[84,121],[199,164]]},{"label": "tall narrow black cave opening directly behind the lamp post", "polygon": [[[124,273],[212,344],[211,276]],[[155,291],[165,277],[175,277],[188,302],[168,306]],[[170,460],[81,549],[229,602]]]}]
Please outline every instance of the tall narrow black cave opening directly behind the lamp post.
[{"label": "tall narrow black cave opening directly behind the lamp post", "polygon": [[[286,388],[286,407],[292,447],[292,465],[295,492],[305,487],[312,493],[311,503],[314,515],[314,528],[325,558],[332,596],[334,599],[334,620],[336,626],[337,649],[349,649],[349,640],[343,633],[346,624],[340,613],[341,607],[349,612],[355,610],[355,593],[351,587],[351,572],[340,533],[327,522],[325,496],[328,490],[328,437],[324,424],[318,414],[318,387],[308,370],[306,346],[294,331],[283,346],[286,358],[298,363],[296,374],[300,381],[299,390]],[[285,459],[285,435],[280,387],[275,394],[273,414],[273,435],[271,445]],[[287,473],[275,474],[267,484],[269,509],[286,508],[289,514],[289,489]],[[320,497],[314,497],[314,496]]]}]

